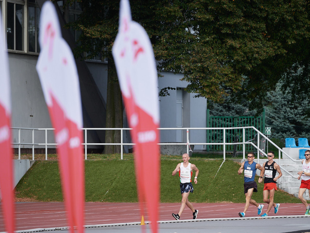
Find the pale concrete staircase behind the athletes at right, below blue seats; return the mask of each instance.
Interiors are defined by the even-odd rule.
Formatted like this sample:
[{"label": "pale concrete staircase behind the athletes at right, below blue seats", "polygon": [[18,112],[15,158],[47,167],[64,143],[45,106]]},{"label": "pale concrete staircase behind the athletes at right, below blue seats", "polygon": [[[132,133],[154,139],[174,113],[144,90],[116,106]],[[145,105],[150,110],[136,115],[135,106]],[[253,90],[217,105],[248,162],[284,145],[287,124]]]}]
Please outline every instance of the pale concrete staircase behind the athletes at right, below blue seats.
[{"label": "pale concrete staircase behind the athletes at right, below blue seats", "polygon": [[[277,164],[279,164],[279,159],[274,159],[274,161]],[[291,175],[296,177],[298,176],[297,172],[302,170],[301,161],[302,161],[301,159],[300,159],[300,162],[293,162],[290,159],[281,159],[280,165],[281,167],[286,169]],[[301,180],[298,180],[290,176],[289,173],[287,173],[283,169],[281,169],[281,171],[282,171],[282,176],[277,182],[278,187],[281,190],[284,190],[290,194],[293,194],[295,197],[298,198],[298,192],[299,192]],[[310,200],[308,190],[306,190],[306,192],[303,194],[303,198],[306,200]]]}]

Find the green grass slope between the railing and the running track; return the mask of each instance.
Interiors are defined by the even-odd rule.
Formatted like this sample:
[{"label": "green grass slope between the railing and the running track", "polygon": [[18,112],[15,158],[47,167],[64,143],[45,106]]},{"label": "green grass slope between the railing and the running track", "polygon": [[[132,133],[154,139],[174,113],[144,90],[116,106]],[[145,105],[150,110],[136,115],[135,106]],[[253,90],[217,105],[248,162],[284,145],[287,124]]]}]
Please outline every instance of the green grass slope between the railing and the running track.
[{"label": "green grass slope between the railing and the running track", "polygon": [[[179,203],[179,177],[171,173],[182,162],[179,156],[162,156],[161,202]],[[198,183],[189,200],[196,203],[244,203],[243,175],[240,165],[226,160],[215,177],[223,159],[191,158],[199,169]],[[153,174],[145,174],[153,176]],[[194,174],[193,174],[194,176]],[[214,178],[215,177],[215,178]],[[258,176],[256,176],[258,183]],[[137,202],[134,160],[132,156],[120,160],[113,156],[85,161],[85,196],[87,202]],[[263,184],[258,183],[253,199],[263,203]],[[63,201],[57,161],[37,161],[15,188],[18,199],[33,201]],[[300,203],[299,199],[282,190],[275,193],[277,203]]]}]

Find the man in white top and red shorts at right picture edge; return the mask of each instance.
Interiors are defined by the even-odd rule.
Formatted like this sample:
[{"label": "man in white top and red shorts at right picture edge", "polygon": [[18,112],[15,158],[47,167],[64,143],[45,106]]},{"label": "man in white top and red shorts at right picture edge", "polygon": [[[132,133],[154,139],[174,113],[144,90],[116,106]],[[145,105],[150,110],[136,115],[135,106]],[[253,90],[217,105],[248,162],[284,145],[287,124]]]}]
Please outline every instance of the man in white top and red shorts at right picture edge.
[{"label": "man in white top and red shorts at right picture edge", "polygon": [[303,164],[303,170],[298,172],[298,175],[299,175],[298,180],[301,177],[301,184],[299,187],[298,198],[301,200],[301,202],[306,207],[305,215],[310,215],[310,212],[309,212],[310,207],[307,201],[303,198],[303,194],[307,189],[310,194],[310,191],[309,191],[310,190],[310,150],[305,151],[305,157],[306,159],[301,162]]}]

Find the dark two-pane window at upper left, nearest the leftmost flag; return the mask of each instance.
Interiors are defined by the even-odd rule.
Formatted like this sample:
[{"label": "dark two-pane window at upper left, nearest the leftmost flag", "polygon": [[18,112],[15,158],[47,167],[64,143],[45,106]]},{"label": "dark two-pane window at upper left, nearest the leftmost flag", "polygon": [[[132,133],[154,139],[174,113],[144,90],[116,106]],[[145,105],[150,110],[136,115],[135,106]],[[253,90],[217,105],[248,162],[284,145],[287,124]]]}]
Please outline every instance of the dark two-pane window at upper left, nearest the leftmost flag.
[{"label": "dark two-pane window at upper left, nearest the leftmost flag", "polygon": [[24,5],[7,2],[7,48],[24,50]]}]

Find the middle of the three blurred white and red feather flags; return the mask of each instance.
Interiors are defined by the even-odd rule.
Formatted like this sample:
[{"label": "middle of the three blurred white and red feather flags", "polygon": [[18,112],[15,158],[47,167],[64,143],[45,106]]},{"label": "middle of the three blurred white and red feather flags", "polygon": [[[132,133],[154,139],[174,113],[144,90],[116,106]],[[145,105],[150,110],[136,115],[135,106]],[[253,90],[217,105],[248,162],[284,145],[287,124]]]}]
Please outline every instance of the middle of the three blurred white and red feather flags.
[{"label": "middle of the three blurred white and red feather flags", "polygon": [[62,38],[55,7],[43,4],[40,17],[41,52],[37,71],[55,128],[60,177],[71,232],[84,232],[84,160],[82,103],[73,53]]}]

